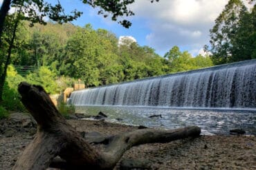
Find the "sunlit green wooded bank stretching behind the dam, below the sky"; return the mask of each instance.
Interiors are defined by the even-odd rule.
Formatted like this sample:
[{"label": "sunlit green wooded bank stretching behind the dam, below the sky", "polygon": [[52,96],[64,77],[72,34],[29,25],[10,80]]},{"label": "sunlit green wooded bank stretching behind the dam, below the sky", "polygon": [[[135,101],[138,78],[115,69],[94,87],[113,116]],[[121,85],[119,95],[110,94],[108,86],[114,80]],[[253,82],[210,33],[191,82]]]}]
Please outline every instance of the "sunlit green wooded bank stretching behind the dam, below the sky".
[{"label": "sunlit green wooded bank stretching behind the dam, below the sky", "polygon": [[38,67],[23,75],[26,81],[42,85],[51,94],[61,92],[67,84],[71,86],[72,78],[93,87],[212,65],[206,61],[209,57],[192,58],[176,46],[164,59],[152,47],[140,47],[131,39],[118,45],[115,34],[93,30],[89,24],[84,28],[56,23],[33,28],[26,22],[23,25],[25,29],[19,30],[17,39],[24,39],[24,44],[20,50],[17,45],[12,63],[20,65],[19,70]]}]

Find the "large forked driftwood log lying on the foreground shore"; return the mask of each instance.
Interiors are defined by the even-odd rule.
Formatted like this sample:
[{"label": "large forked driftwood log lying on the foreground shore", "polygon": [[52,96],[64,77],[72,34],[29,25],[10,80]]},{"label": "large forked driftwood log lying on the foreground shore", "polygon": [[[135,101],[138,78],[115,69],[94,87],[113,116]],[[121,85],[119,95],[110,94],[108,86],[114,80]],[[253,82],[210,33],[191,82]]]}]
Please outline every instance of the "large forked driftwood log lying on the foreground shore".
[{"label": "large forked driftwood log lying on the foreground shore", "polygon": [[[47,169],[56,156],[72,169],[113,169],[123,153],[135,145],[170,142],[199,136],[199,127],[174,130],[138,129],[116,136],[81,136],[57,111],[41,86],[20,83],[21,102],[37,121],[37,134],[13,169]],[[106,145],[96,151],[91,142]]]}]

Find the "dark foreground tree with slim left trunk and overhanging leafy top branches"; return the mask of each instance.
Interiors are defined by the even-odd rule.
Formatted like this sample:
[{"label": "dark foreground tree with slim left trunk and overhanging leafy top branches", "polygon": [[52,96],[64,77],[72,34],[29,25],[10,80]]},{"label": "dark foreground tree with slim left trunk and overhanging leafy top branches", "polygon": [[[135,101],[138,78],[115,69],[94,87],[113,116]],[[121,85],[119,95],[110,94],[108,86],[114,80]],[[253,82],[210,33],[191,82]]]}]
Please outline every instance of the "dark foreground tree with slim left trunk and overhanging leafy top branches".
[{"label": "dark foreground tree with slim left trunk and overhanging leafy top branches", "polygon": [[[152,0],[152,2],[153,1],[154,0]],[[93,8],[99,8],[100,10],[98,11],[98,14],[102,14],[103,17],[110,16],[113,21],[117,21],[118,17],[128,17],[134,15],[134,12],[127,8],[129,4],[134,3],[134,0],[84,0],[82,2],[84,4],[89,4]],[[80,17],[82,14],[82,12],[79,12],[77,10],[73,10],[71,14],[65,14],[64,8],[62,8],[60,1],[57,1],[57,4],[53,5],[51,3],[44,2],[44,0],[3,0],[3,4],[0,9],[0,47],[2,47],[1,39],[3,34],[3,27],[10,7],[19,8],[20,15],[18,19],[30,21],[31,26],[33,26],[35,23],[42,23],[46,25],[44,17],[48,17],[52,21],[56,21],[58,23],[66,23],[68,21],[73,21],[74,19],[77,19],[77,17]],[[131,22],[127,20],[120,20],[118,21],[118,23],[123,25],[125,28],[129,28],[129,26],[131,26]],[[14,29],[15,32],[16,28],[17,26]],[[15,32],[12,33],[13,39],[15,39]],[[11,52],[12,45],[9,45],[9,48],[10,50],[8,51]],[[7,65],[10,63],[9,56],[10,55],[8,54],[6,59]],[[0,65],[2,65],[2,63],[0,63]],[[1,73],[0,78],[0,102],[2,100],[3,84],[6,79],[7,65],[3,67],[3,73]]]}]

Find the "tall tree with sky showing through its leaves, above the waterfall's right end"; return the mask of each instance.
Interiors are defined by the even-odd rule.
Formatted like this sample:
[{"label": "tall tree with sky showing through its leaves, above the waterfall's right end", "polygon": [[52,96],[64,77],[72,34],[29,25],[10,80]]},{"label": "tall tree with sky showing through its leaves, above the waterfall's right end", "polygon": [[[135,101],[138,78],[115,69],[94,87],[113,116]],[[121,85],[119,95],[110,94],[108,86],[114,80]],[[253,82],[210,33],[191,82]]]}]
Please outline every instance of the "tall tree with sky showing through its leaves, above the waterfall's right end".
[{"label": "tall tree with sky showing through its leaves, above the waterfall's right end", "polygon": [[246,19],[247,13],[244,3],[240,0],[230,0],[215,20],[215,25],[210,30],[210,47],[205,47],[212,53],[211,57],[215,64],[244,60],[244,55],[239,56],[240,59],[234,59],[232,48],[237,32],[241,28],[239,23]]}]

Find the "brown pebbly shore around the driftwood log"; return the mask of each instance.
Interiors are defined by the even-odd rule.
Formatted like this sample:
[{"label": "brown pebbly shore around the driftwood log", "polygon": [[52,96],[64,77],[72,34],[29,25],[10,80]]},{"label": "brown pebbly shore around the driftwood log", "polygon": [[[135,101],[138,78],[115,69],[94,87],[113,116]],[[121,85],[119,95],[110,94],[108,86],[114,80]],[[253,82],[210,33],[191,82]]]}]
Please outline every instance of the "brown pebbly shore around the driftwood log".
[{"label": "brown pebbly shore around the driftwood log", "polygon": [[[107,123],[102,120],[67,120],[77,131],[98,131],[114,135],[134,131],[138,127]],[[33,140],[35,125],[24,122],[0,134],[0,169],[12,169],[19,153]],[[23,126],[23,127],[22,127]],[[15,131],[16,130],[16,131]],[[254,136],[200,136],[167,143],[132,147],[122,159],[147,160],[150,169],[256,169]],[[115,169],[120,169],[117,164]]]}]

